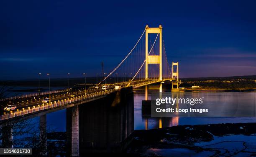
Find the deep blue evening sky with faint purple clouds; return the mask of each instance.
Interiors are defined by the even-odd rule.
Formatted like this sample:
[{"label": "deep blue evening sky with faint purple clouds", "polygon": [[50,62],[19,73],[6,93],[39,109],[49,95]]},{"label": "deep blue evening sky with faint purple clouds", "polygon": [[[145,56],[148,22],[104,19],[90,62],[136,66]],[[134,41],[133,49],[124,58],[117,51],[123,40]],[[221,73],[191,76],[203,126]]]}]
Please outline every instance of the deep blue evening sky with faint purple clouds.
[{"label": "deep blue evening sky with faint purple clouds", "polygon": [[[112,70],[145,25],[163,26],[180,77],[256,75],[256,1],[0,2],[0,79]],[[44,75],[46,77],[46,75]]]}]

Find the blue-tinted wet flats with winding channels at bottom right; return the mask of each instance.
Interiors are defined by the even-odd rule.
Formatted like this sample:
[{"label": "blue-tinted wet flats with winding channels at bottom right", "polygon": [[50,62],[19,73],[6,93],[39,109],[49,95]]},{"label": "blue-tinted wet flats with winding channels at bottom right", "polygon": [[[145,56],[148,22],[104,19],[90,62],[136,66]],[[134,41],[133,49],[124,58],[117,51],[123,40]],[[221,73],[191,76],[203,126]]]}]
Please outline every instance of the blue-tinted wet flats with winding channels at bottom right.
[{"label": "blue-tinted wet flats with winding channels at bottom right", "polygon": [[[190,128],[187,128],[190,129]],[[210,132],[209,132],[210,133]],[[211,133],[210,133],[211,134]],[[212,134],[211,134],[212,135]],[[210,142],[198,142],[195,146],[204,148],[203,151],[190,150],[187,148],[150,148],[143,153],[144,157],[210,157],[210,156],[233,156],[247,157],[256,155],[256,136],[253,135],[224,135],[214,136]],[[216,154],[215,154],[216,153]]]}]

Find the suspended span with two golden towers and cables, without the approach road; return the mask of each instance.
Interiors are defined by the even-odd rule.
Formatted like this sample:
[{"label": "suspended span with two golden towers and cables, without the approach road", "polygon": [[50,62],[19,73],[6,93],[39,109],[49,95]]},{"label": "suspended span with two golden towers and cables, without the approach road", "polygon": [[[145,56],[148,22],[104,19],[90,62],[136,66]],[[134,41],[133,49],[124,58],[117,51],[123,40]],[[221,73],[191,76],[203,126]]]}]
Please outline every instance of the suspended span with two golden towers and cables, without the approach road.
[{"label": "suspended span with two golden towers and cables, without the approach road", "polygon": [[[137,88],[160,82],[159,92],[162,92],[162,83],[169,80],[178,88],[179,63],[172,62],[172,68],[170,68],[162,38],[161,25],[159,27],[146,25],[145,30],[128,55],[98,85],[104,83],[108,77],[126,77],[129,75],[130,80],[123,82],[124,87]],[[174,69],[175,67],[176,69]],[[174,87],[172,86],[172,88]]]}]

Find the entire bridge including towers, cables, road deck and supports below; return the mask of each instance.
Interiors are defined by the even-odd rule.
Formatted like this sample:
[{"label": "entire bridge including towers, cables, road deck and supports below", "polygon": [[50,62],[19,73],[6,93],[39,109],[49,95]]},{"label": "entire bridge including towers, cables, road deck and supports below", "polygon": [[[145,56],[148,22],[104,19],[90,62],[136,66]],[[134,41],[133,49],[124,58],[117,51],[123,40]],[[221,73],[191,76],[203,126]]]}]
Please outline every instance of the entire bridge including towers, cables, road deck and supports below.
[{"label": "entire bridge including towers, cables, road deck and supports below", "polygon": [[[80,112],[85,112],[84,105],[93,103],[95,106],[102,104],[104,106],[105,100],[109,101],[113,97],[118,97],[116,100],[120,100],[120,102],[127,105],[130,100],[133,100],[133,95],[131,94],[133,88],[138,87],[145,87],[145,100],[148,100],[148,85],[159,84],[159,92],[161,93],[162,84],[166,81],[172,82],[172,90],[175,89],[177,91],[180,83],[179,62],[172,62],[172,67],[170,68],[162,37],[162,29],[161,25],[159,27],[148,27],[146,25],[131,51],[95,88],[49,91],[48,93],[12,97],[1,101],[2,104],[8,103],[7,105],[9,106],[17,106],[15,110],[6,111],[3,112],[3,115],[0,115],[0,128],[3,128],[4,135],[2,137],[2,145],[6,148],[12,147],[11,122],[40,117],[40,138],[44,139],[46,138],[46,114],[67,109],[68,154],[69,156],[79,156],[79,141],[81,141],[79,127],[83,127],[83,122],[79,123],[79,119],[86,117],[86,114],[81,114],[80,116],[79,114]],[[118,80],[120,77],[123,78],[122,81]],[[115,79],[115,83],[107,83],[111,79]],[[42,102],[45,98],[49,101]],[[99,104],[97,104],[98,102]],[[122,112],[120,117],[124,116],[123,118],[128,118],[128,121],[133,121],[133,103],[130,102],[130,105],[132,107],[131,113],[120,111],[114,115]],[[79,112],[79,110],[81,111]],[[102,110],[102,112],[107,111]],[[105,116],[108,118],[107,114]],[[104,114],[103,117],[100,116],[98,118],[103,118],[102,120],[104,120]],[[127,121],[121,122],[122,120],[125,119],[120,119],[120,122],[116,125],[127,124]],[[115,122],[113,121],[113,123]],[[82,126],[79,126],[79,124]],[[103,129],[106,128],[104,127]],[[123,140],[133,131],[131,129],[129,131],[123,130],[123,127],[120,127],[120,130],[124,132]]]}]

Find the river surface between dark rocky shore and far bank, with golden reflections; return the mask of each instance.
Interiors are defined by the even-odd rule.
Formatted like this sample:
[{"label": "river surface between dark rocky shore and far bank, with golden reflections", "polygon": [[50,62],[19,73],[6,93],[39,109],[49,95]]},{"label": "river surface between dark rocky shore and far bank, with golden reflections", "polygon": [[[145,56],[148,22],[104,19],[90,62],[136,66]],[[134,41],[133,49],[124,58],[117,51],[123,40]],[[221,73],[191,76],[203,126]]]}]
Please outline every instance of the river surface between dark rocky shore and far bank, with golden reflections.
[{"label": "river surface between dark rocky shore and far bank, with golden reflections", "polygon": [[[225,102],[225,105],[232,104],[238,101],[241,105],[250,103],[256,105],[256,92],[214,92],[214,91],[200,91],[204,95],[211,97],[211,101]],[[199,95],[200,92],[184,92],[181,95]],[[148,93],[148,100],[151,99],[150,92]],[[145,100],[143,90],[134,92],[134,130],[155,129],[159,127],[171,127],[175,125],[205,125],[217,123],[247,123],[256,122],[256,117],[146,117],[141,114],[141,102]],[[216,100],[216,101],[214,101]],[[250,110],[250,109],[248,109]]]}]

